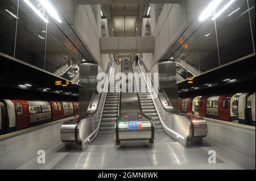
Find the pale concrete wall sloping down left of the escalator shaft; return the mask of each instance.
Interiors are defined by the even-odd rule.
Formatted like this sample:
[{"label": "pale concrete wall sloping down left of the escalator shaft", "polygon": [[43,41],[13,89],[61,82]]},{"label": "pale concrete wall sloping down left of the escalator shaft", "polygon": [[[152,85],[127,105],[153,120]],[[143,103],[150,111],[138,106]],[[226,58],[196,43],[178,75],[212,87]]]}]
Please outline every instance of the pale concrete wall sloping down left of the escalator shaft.
[{"label": "pale concrete wall sloping down left of the escalator shaft", "polygon": [[94,16],[90,5],[79,5],[77,0],[54,0],[54,3],[93,59],[104,68],[109,60],[100,52],[101,5],[95,5],[97,16]]}]

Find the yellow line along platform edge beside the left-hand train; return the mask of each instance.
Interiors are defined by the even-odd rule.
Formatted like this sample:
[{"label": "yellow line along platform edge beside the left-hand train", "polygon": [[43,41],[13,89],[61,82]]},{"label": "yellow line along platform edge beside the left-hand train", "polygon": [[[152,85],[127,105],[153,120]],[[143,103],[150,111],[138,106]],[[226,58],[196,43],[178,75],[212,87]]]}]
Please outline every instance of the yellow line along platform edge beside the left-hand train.
[{"label": "yellow line along platform edge beside the left-hand train", "polygon": [[38,126],[35,126],[35,127],[22,129],[20,131],[3,134],[3,135],[0,136],[0,141],[5,139],[5,138],[9,138],[9,137],[13,137],[13,136],[18,136],[19,134],[28,133],[28,132],[31,132],[31,131],[35,131],[36,129],[41,129],[41,128],[49,127],[51,125],[58,124],[58,123],[61,123],[61,122],[64,122],[64,121],[68,121],[68,120],[72,120],[72,119],[73,119],[73,116],[72,117],[67,117],[67,118],[64,118],[64,119],[60,119],[60,120],[57,120],[57,121],[52,121],[52,122],[49,122],[49,123],[46,123],[46,124],[41,124],[41,125],[38,125]]}]

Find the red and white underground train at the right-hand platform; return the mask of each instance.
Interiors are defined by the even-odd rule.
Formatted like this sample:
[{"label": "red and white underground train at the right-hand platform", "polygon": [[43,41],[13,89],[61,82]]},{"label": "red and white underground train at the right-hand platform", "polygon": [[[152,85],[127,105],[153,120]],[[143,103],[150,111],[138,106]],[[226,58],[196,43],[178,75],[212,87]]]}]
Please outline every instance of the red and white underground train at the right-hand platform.
[{"label": "red and white underground train at the right-hand platform", "polygon": [[224,121],[238,120],[240,124],[255,126],[255,92],[179,98],[179,111]]}]

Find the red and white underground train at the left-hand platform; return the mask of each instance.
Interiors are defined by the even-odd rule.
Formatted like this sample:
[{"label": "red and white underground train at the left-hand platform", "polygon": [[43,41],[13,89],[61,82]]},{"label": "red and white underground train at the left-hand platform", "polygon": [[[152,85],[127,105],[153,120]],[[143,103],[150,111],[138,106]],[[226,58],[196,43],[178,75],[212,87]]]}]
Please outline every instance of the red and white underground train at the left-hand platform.
[{"label": "red and white underground train at the left-hand platform", "polygon": [[4,99],[0,102],[0,135],[76,115],[78,102]]}]

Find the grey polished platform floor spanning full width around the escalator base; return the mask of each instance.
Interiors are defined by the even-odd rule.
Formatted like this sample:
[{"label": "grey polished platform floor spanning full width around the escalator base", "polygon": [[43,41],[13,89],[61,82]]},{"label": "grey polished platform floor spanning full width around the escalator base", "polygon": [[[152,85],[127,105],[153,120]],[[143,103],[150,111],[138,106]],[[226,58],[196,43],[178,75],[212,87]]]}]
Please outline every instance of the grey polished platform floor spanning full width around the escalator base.
[{"label": "grey polished platform floor spanning full width around the escalator base", "polygon": [[[166,133],[155,144],[125,142],[115,149],[113,134],[99,134],[85,151],[65,150],[60,124],[0,141],[0,169],[255,169],[255,131],[208,121],[200,146],[182,146]],[[46,151],[39,164],[38,150]],[[216,164],[208,163],[215,150]]]}]

